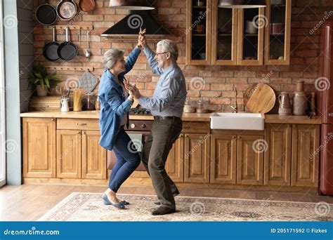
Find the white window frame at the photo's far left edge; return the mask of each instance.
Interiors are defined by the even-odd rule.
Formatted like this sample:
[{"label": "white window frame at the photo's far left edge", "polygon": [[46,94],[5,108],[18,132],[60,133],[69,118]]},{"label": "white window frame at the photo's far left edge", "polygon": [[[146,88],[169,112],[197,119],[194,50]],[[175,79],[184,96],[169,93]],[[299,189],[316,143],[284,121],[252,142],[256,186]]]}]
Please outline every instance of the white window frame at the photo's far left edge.
[{"label": "white window frame at the photo's far left edge", "polygon": [[6,84],[5,84],[5,74],[4,74],[4,25],[3,25],[3,1],[0,1],[0,134],[1,145],[0,145],[0,171],[2,172],[2,178],[0,178],[0,187],[6,184]]}]

